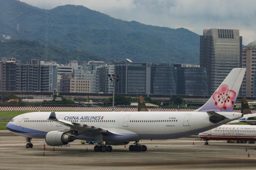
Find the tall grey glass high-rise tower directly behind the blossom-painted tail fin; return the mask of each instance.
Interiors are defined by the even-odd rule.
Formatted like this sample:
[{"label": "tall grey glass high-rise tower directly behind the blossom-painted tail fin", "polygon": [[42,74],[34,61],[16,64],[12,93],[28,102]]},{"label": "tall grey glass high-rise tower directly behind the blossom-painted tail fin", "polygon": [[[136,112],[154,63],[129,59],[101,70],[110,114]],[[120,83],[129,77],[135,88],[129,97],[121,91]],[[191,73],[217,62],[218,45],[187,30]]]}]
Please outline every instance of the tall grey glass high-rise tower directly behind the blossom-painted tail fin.
[{"label": "tall grey glass high-rise tower directly behind the blossom-painted tail fin", "polygon": [[239,29],[204,29],[200,36],[200,67],[206,68],[212,94],[233,68],[241,68],[242,37]]}]

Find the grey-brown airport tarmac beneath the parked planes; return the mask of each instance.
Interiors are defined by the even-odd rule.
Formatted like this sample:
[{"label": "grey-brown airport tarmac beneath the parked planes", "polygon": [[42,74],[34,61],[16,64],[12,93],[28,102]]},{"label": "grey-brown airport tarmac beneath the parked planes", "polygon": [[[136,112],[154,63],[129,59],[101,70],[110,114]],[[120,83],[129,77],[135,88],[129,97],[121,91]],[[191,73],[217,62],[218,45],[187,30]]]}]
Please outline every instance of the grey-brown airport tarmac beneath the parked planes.
[{"label": "grey-brown airport tarmac beneath the parked planes", "polygon": [[[193,145],[194,142],[194,145]],[[95,145],[75,140],[70,147],[55,147],[44,139],[25,138],[0,130],[0,169],[255,169],[256,144],[195,140],[195,137],[165,141],[141,141],[147,152],[130,152],[129,144],[112,146],[112,152],[94,152]],[[247,151],[246,151],[247,147]],[[88,149],[88,152],[86,152]],[[45,156],[43,153],[45,152]],[[250,157],[248,157],[248,153]]]}]

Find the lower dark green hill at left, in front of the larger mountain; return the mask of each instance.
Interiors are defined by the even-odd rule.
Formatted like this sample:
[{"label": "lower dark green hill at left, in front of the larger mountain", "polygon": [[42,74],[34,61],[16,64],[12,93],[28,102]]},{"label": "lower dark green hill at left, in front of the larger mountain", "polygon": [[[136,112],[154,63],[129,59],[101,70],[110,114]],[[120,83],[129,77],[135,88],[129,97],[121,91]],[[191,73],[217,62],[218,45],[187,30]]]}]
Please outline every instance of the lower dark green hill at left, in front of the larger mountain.
[{"label": "lower dark green hill at left, in front of the larger mountain", "polygon": [[22,63],[28,59],[41,61],[56,61],[65,64],[71,60],[78,61],[106,61],[106,58],[96,56],[93,53],[80,50],[64,50],[55,46],[41,46],[37,41],[9,40],[0,42],[0,57],[16,58]]}]

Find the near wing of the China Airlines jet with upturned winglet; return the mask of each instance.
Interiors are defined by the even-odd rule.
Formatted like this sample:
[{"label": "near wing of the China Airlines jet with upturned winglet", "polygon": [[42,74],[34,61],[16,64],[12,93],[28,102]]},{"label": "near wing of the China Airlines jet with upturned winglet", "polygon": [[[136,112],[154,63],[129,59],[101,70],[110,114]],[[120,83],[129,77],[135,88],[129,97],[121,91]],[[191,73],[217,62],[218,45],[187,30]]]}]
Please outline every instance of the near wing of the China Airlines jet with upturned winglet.
[{"label": "near wing of the China Airlines jet with upturned winglet", "polygon": [[120,135],[113,131],[110,132],[107,129],[102,129],[102,128],[95,127],[95,126],[79,124],[79,123],[75,123],[75,122],[57,119],[55,112],[51,112],[48,120],[51,120],[51,121],[54,121],[54,122],[57,122],[59,124],[69,127],[68,129],[62,129],[62,130],[57,130],[57,131],[63,131],[67,134],[74,135],[74,136],[80,135],[82,133],[88,133],[88,134],[94,134],[94,135],[97,133],[104,134],[104,135]]}]

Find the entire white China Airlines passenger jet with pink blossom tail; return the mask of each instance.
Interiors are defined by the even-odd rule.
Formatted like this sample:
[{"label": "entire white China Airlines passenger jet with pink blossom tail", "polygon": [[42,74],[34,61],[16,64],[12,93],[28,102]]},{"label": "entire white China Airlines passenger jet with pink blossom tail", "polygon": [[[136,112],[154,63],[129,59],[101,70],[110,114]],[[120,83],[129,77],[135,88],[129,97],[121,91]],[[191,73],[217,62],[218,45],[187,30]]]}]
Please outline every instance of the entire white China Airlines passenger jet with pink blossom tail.
[{"label": "entire white China Airlines passenger jet with pink blossom tail", "polygon": [[243,117],[232,111],[245,70],[233,69],[206,104],[194,112],[31,112],[14,117],[6,127],[26,137],[30,148],[32,138],[45,138],[50,146],[75,139],[98,141],[94,151],[102,152],[111,152],[111,145],[135,141],[130,151],[146,151],[139,140],[190,136]]}]

